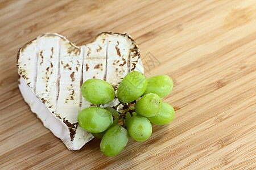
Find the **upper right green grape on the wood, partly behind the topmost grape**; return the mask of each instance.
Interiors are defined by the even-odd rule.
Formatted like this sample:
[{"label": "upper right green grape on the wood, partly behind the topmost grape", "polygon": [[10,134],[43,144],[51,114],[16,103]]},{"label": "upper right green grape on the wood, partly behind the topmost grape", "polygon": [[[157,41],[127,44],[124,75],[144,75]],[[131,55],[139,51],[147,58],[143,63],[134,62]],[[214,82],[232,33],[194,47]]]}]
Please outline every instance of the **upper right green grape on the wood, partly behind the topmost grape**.
[{"label": "upper right green grape on the wood, partly behind the topmost grape", "polygon": [[147,88],[143,95],[156,94],[159,97],[164,97],[172,91],[174,82],[168,75],[156,75],[147,79]]}]

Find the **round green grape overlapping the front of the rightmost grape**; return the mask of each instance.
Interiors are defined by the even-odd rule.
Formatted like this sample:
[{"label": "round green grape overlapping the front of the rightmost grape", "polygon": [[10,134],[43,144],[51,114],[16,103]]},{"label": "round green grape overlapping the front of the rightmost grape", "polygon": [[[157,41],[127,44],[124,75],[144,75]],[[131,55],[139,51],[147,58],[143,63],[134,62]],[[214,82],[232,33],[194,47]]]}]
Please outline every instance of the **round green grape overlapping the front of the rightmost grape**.
[{"label": "round green grape overlapping the front of the rightmost grape", "polygon": [[135,104],[135,112],[144,117],[152,117],[162,109],[162,100],[156,94],[146,94]]}]

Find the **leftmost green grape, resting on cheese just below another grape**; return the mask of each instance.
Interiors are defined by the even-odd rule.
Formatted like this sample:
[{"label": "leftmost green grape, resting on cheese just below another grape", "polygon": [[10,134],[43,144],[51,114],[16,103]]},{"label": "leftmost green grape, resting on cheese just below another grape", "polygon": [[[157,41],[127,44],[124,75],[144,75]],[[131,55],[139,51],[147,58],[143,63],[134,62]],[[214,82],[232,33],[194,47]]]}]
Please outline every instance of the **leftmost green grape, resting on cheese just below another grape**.
[{"label": "leftmost green grape, resting on cheese just below another grape", "polygon": [[77,120],[82,129],[90,133],[100,133],[109,128],[113,123],[113,117],[109,111],[99,107],[82,109]]}]

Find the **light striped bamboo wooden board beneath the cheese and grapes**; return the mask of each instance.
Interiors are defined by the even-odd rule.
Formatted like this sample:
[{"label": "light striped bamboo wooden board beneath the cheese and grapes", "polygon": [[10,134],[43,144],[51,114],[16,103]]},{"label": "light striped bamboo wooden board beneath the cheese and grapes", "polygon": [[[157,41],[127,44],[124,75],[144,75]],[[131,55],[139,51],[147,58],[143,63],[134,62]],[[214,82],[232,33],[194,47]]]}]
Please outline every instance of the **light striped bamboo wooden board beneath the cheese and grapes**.
[{"label": "light striped bamboo wooden board beneath the cheese and grapes", "polygon": [[[101,154],[93,139],[69,151],[44,128],[18,89],[16,52],[46,32],[77,45],[127,32],[146,76],[166,74],[175,108],[150,139]],[[254,169],[256,2],[0,1],[0,169]]]}]

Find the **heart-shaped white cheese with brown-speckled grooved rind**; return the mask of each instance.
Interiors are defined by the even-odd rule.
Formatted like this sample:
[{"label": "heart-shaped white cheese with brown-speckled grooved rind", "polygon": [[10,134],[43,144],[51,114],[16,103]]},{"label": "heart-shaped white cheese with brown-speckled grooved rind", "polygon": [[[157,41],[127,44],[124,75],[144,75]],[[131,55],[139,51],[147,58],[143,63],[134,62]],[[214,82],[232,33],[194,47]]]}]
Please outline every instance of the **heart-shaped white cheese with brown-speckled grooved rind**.
[{"label": "heart-shaped white cheese with brown-speckled grooved rind", "polygon": [[[79,150],[93,136],[77,122],[81,109],[91,107],[81,84],[103,79],[117,89],[130,71],[143,73],[139,49],[129,35],[103,32],[86,45],[46,33],[22,46],[17,56],[19,88],[31,111],[69,150]],[[101,107],[118,104],[115,99]]]}]

